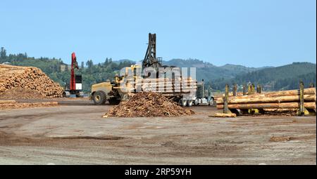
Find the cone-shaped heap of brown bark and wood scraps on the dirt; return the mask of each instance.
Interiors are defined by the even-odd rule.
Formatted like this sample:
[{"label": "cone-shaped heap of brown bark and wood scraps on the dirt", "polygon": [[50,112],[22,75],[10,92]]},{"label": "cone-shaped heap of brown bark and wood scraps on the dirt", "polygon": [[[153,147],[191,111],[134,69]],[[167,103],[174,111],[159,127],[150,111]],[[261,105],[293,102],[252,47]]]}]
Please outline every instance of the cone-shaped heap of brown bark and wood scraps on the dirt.
[{"label": "cone-shaped heap of brown bark and wood scraps on the dirt", "polygon": [[159,93],[140,92],[112,107],[104,117],[178,117],[194,114]]}]

